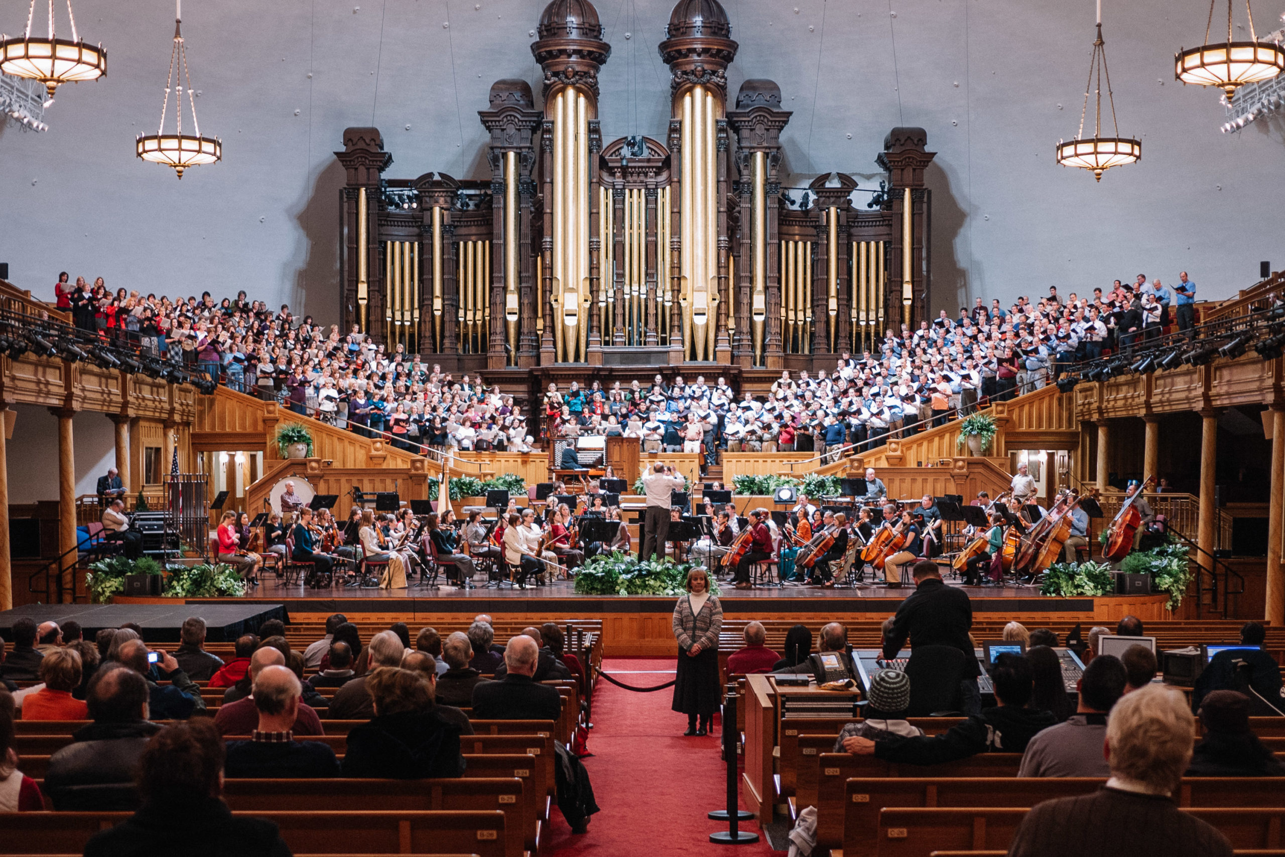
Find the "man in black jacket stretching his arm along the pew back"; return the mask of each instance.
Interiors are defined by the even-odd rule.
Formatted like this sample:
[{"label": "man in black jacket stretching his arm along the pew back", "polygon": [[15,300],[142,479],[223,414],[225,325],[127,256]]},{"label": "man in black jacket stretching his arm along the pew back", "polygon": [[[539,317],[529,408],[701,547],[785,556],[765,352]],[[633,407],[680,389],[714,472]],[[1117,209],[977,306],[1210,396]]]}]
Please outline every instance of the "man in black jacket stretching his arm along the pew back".
[{"label": "man in black jacket stretching his arm along the pew back", "polygon": [[1024,657],[1002,654],[996,658],[991,684],[998,707],[987,708],[942,735],[889,738],[878,743],[849,738],[843,741],[843,749],[888,762],[939,764],[978,753],[1024,753],[1036,732],[1058,722],[1052,712],[1025,707],[1034,690],[1034,675]]}]

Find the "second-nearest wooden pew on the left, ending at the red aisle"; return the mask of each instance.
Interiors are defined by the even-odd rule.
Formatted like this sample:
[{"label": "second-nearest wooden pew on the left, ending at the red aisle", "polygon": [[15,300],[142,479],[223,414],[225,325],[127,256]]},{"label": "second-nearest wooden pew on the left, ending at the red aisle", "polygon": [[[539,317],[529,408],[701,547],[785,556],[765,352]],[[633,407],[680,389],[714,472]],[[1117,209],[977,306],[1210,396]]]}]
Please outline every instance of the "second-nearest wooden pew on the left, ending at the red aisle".
[{"label": "second-nearest wooden pew on the left, ending at the red aisle", "polygon": [[[343,795],[344,809],[379,811],[491,811],[505,813],[505,856],[522,857],[535,851],[538,821],[523,812],[523,781],[509,779],[448,780],[226,780],[224,800],[233,812],[316,811],[335,795]],[[532,807],[535,808],[535,807]]]}]

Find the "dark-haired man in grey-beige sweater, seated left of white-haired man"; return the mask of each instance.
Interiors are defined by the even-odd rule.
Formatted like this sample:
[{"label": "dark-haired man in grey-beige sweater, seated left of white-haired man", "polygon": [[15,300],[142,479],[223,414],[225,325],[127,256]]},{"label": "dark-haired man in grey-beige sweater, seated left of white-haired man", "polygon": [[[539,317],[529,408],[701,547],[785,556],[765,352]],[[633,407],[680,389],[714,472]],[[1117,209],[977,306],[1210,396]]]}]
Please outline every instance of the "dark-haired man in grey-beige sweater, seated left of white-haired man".
[{"label": "dark-haired man in grey-beige sweater, seated left of white-haired man", "polygon": [[1128,676],[1119,658],[1094,658],[1079,681],[1079,703],[1065,723],[1037,732],[1022,755],[1018,776],[1109,776],[1103,757],[1106,717],[1124,695]]}]

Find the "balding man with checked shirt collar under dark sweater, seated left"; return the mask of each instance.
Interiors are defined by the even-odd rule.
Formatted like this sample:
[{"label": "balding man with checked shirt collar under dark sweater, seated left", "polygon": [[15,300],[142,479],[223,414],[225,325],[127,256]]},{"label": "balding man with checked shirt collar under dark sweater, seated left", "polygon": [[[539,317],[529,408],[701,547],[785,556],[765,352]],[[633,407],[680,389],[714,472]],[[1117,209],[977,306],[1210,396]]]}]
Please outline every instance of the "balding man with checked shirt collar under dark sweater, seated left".
[{"label": "balding man with checked shirt collar under dark sweater, seated left", "polygon": [[230,777],[338,776],[339,761],[328,744],[296,741],[302,686],[285,667],[263,667],[254,677],[258,726],[249,740],[229,741],[225,772]]}]

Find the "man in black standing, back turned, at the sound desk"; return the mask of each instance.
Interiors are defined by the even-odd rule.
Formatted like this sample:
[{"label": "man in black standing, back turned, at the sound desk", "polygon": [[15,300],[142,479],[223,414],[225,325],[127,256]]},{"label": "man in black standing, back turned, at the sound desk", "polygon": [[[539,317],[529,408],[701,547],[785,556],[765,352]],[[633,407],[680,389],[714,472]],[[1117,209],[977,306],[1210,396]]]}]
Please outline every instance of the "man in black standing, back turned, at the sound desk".
[{"label": "man in black standing, back turned, at the sound desk", "polygon": [[973,627],[973,604],[968,592],[942,581],[937,563],[921,559],[915,563],[915,591],[901,603],[884,635],[884,658],[896,658],[908,639],[916,646],[952,646],[964,653],[964,680],[960,682],[960,711],[978,714],[982,694],[977,677],[982,675],[969,630]]}]

